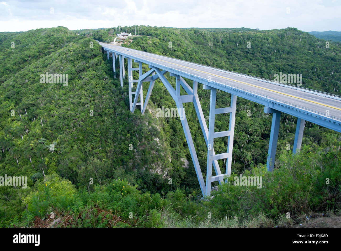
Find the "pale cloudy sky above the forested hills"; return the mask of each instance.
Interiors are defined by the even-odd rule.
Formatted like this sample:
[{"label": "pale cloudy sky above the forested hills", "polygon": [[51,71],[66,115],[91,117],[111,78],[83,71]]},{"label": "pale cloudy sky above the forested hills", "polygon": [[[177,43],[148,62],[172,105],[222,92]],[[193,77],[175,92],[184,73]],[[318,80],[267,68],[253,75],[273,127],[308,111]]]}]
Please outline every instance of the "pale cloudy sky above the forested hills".
[{"label": "pale cloudy sky above the forested hills", "polygon": [[0,31],[65,26],[341,31],[340,0],[0,0]]}]

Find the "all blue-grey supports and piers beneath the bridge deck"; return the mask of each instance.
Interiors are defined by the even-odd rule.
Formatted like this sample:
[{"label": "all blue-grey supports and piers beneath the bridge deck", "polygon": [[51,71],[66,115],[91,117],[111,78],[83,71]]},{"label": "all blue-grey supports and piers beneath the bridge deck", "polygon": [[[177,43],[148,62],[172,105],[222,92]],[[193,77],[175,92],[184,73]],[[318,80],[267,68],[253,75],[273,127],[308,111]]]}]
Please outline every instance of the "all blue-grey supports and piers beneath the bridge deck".
[{"label": "all blue-grey supports and piers beneath the bridge deck", "polygon": [[[190,154],[192,157],[193,165],[195,168],[195,172],[199,181],[199,186],[201,188],[203,196],[210,196],[211,193],[211,184],[214,181],[218,181],[220,184],[224,182],[224,178],[227,178],[231,175],[231,166],[232,166],[232,149],[233,149],[233,137],[234,137],[234,129],[235,129],[235,116],[236,116],[236,101],[237,101],[237,93],[232,92],[231,95],[231,105],[230,107],[225,108],[216,108],[216,95],[217,95],[217,88],[209,85],[210,78],[207,81],[201,81],[200,83],[203,84],[203,88],[210,90],[210,109],[209,109],[209,121],[208,127],[206,124],[206,120],[203,114],[203,110],[201,108],[201,104],[198,97],[198,79],[193,78],[193,85],[190,86],[184,80],[185,78],[189,78],[188,75],[184,76],[181,75],[181,72],[175,73],[174,70],[171,72],[169,69],[162,69],[157,64],[149,64],[149,70],[143,73],[142,69],[142,62],[139,60],[134,59],[134,62],[138,64],[138,68],[133,68],[132,66],[132,58],[128,55],[120,54],[119,51],[111,52],[110,49],[104,48],[104,51],[107,52],[107,57],[109,59],[110,53],[113,55],[113,67],[114,73],[116,77],[116,60],[118,58],[119,65],[120,65],[120,83],[123,87],[123,79],[124,79],[124,58],[128,59],[128,84],[129,84],[129,103],[130,103],[130,110],[131,112],[135,112],[136,106],[140,106],[140,110],[142,114],[145,113],[146,107],[153,90],[155,81],[160,79],[160,81],[164,84],[172,98],[174,99],[178,113],[180,115],[181,124],[183,127],[183,131],[187,140],[187,144],[190,150]],[[139,72],[138,79],[133,79],[133,71]],[[170,76],[175,77],[175,89],[172,84],[166,79],[165,74],[169,73]],[[149,88],[145,100],[143,101],[143,82],[149,82]],[[134,83],[137,83],[136,90],[133,91]],[[180,88],[187,93],[186,95],[180,95]],[[227,92],[227,91],[226,91]],[[252,100],[252,99],[250,99]],[[186,118],[186,113],[183,108],[183,103],[193,102],[194,108],[198,117],[199,124],[201,126],[206,146],[207,146],[207,168],[206,168],[206,182],[204,181],[202,175],[202,169],[199,165],[198,157],[196,155],[196,150],[194,147],[193,139],[191,136],[190,128],[188,126],[188,121]],[[281,108],[282,109],[282,108]],[[269,141],[269,148],[268,148],[268,157],[267,157],[267,168],[269,171],[273,170],[274,163],[275,163],[275,156],[277,150],[277,140],[278,134],[280,129],[280,116],[281,111],[277,110],[275,106],[272,104],[272,107],[265,106],[264,107],[265,113],[272,114],[272,124],[271,124],[271,133],[270,133],[270,141]],[[229,114],[229,129],[227,131],[214,131],[214,122],[216,119],[216,114],[221,113],[228,113]],[[309,113],[305,113],[302,117],[309,117]],[[294,148],[293,154],[301,148],[302,143],[302,136],[303,136],[303,129],[305,126],[305,120],[303,118],[298,118],[297,126],[296,126],[296,134],[294,140]],[[214,139],[220,137],[227,137],[227,149],[226,152],[216,154],[214,151]],[[222,173],[218,160],[219,159],[226,159],[226,168],[225,172]],[[212,176],[212,167],[214,169],[215,175]],[[227,181],[227,179],[225,179]]]}]

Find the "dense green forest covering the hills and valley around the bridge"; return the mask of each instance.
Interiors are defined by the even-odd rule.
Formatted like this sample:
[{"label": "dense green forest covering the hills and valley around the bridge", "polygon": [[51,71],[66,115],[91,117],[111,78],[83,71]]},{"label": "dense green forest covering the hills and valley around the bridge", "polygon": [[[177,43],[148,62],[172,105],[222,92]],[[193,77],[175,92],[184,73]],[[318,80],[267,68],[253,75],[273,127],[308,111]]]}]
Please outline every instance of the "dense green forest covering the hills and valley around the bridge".
[{"label": "dense green forest covering the hills and valley around the bridge", "polygon": [[[122,29],[134,33],[134,26]],[[27,177],[26,189],[0,185],[1,227],[288,227],[341,213],[341,134],[307,121],[293,156],[297,118],[282,114],[268,172],[272,116],[239,97],[232,175],[202,198],[180,119],[156,116],[162,106],[176,108],[162,82],[145,115],[130,112],[128,79],[122,88],[119,69],[113,72],[95,41],[113,41],[115,33],[61,26],[0,32],[0,176]],[[341,44],[326,46],[296,28],[143,26],[142,35],[121,46],[271,80],[302,74],[302,87],[341,95]],[[46,72],[68,74],[68,83],[42,83]],[[210,93],[199,84],[198,95],[208,119]],[[230,102],[217,92],[218,107]],[[184,109],[206,179],[205,140],[193,104]],[[224,114],[216,127],[228,130]],[[217,154],[226,140],[214,142]],[[224,159],[219,164],[223,172]],[[240,174],[262,176],[262,189],[232,185]]]}]

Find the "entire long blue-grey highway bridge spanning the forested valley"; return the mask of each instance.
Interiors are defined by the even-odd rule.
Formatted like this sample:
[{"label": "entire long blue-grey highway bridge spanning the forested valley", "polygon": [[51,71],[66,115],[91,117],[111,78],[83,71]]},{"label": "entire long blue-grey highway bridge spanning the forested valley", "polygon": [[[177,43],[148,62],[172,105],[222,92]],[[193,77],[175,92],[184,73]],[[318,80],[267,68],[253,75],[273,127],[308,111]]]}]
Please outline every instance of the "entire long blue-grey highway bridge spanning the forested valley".
[{"label": "entire long blue-grey highway bridge spanning the forested valley", "polygon": [[[99,44],[102,46],[104,52],[107,53],[108,60],[110,54],[112,54],[113,71],[115,73],[116,61],[118,58],[120,84],[122,87],[123,79],[125,78],[124,59],[126,58],[128,60],[127,72],[131,112],[134,113],[136,106],[140,106],[142,114],[145,113],[154,83],[158,79],[164,84],[174,99],[179,111],[183,111],[183,103],[193,102],[207,145],[206,182],[203,179],[190,128],[184,112],[182,112],[180,120],[203,196],[210,195],[212,182],[218,181],[219,183],[222,183],[224,182],[224,176],[231,175],[237,96],[262,104],[264,105],[265,113],[272,113],[267,157],[267,168],[269,171],[272,171],[274,166],[280,116],[282,112],[298,118],[293,154],[296,154],[297,150],[300,150],[301,148],[303,129],[306,121],[341,132],[341,96],[294,85],[281,84],[255,76],[194,64],[192,62],[157,54],[127,49],[118,45],[110,45],[102,42],[99,42]],[[133,68],[132,60],[134,60],[139,67]],[[147,64],[150,70],[143,72],[142,64]],[[133,71],[138,71],[138,79],[133,79]],[[175,88],[165,78],[166,73],[175,77]],[[187,83],[184,78],[193,81],[193,83]],[[149,88],[145,99],[143,99],[143,82],[149,82]],[[198,83],[203,84],[204,89],[210,90],[208,127],[197,94]],[[181,86],[186,91],[187,95],[180,95]],[[231,95],[230,107],[216,108],[217,90],[221,90]],[[215,115],[221,113],[229,114],[229,130],[216,132],[214,131]],[[213,143],[214,139],[219,137],[228,137],[227,151],[216,154],[214,152]],[[218,160],[223,158],[227,159],[225,173],[221,173],[218,164]],[[215,171],[215,175],[213,176],[212,166]]]}]

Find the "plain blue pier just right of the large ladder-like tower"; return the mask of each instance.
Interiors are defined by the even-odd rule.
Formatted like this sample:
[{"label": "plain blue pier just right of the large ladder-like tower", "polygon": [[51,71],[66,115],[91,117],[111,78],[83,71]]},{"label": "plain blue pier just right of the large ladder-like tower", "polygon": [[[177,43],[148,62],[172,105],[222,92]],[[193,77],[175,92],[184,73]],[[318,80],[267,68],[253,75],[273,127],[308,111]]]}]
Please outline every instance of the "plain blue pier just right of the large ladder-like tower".
[{"label": "plain blue pier just right of the large ladder-like tower", "polygon": [[279,127],[281,122],[281,112],[270,107],[264,107],[265,113],[272,113],[272,124],[271,124],[271,133],[270,133],[270,141],[269,141],[269,150],[268,150],[268,158],[266,161],[266,167],[268,171],[273,170],[273,166],[275,164],[275,157],[277,151],[277,140]]}]

